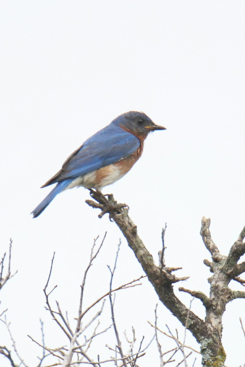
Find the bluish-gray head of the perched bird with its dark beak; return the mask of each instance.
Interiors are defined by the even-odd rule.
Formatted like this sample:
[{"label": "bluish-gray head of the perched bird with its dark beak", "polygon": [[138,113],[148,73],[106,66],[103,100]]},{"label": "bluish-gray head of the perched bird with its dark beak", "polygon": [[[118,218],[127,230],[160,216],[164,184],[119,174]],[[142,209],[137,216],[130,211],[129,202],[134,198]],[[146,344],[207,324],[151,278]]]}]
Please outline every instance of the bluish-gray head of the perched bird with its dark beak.
[{"label": "bluish-gray head of the perched bird with its dark beak", "polygon": [[166,130],[165,127],[154,124],[150,117],[145,115],[145,113],[136,111],[123,113],[113,120],[112,123],[128,132],[131,132],[137,137],[142,138],[146,138],[149,132],[155,130]]}]

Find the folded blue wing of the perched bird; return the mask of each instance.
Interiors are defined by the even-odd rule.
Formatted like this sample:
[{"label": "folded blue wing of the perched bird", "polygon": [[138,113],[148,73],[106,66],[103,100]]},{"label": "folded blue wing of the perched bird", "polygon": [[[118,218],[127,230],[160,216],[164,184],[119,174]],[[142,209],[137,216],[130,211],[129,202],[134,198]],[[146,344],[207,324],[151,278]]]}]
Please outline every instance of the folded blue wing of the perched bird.
[{"label": "folded blue wing of the perched bird", "polygon": [[130,156],[139,146],[135,135],[110,124],[86,140],[43,187],[108,166]]}]

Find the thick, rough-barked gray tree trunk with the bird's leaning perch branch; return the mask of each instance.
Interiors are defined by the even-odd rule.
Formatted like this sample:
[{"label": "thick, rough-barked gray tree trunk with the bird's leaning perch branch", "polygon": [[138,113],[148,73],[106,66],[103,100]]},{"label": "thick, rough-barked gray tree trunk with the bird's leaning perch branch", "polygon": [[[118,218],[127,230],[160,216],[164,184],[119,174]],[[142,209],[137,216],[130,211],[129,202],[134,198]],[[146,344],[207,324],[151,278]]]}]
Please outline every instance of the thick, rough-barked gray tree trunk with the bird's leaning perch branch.
[{"label": "thick, rough-barked gray tree trunk with the bird's leaning perch branch", "polygon": [[231,247],[228,256],[224,256],[220,254],[218,247],[212,241],[209,231],[210,219],[202,218],[202,240],[212,257],[212,261],[204,260],[204,264],[213,273],[208,279],[210,294],[208,297],[201,291],[179,288],[180,291],[187,292],[202,301],[206,310],[205,320],[202,320],[194,312],[189,311],[189,308],[176,297],[173,291],[174,283],[188,277],[177,278],[172,274],[173,268],[168,268],[163,263],[161,266],[155,265],[152,255],[138,236],[137,226],[128,215],[128,207],[125,204],[117,204],[112,195],[109,195],[107,200],[100,193],[91,191],[91,196],[97,202],[86,200],[87,204],[102,211],[99,215],[100,218],[106,212],[109,213],[110,219],[117,224],[129,247],[134,251],[161,302],[177,317],[183,326],[187,324],[187,329],[191,331],[200,344],[202,365],[204,367],[224,367],[226,353],[221,341],[222,316],[228,302],[235,298],[245,298],[245,292],[233,291],[228,287],[232,279],[245,283],[238,277],[245,271],[245,262],[237,264],[239,258],[245,253],[245,243],[243,242],[245,227],[242,229],[238,240]]}]

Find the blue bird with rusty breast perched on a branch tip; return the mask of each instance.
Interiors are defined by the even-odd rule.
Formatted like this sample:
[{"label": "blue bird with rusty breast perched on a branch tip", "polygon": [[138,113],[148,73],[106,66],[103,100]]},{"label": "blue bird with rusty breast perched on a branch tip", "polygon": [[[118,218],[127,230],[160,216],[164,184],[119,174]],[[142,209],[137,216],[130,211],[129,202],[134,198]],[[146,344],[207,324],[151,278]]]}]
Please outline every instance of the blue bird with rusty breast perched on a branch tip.
[{"label": "blue bird with rusty breast perched on a branch tip", "polygon": [[129,111],[116,117],[88,138],[67,158],[61,170],[41,186],[56,183],[32,211],[33,218],[64,190],[83,186],[101,193],[103,187],[122,178],[142,155],[147,135],[155,130],[166,128],[154,124],[143,112]]}]

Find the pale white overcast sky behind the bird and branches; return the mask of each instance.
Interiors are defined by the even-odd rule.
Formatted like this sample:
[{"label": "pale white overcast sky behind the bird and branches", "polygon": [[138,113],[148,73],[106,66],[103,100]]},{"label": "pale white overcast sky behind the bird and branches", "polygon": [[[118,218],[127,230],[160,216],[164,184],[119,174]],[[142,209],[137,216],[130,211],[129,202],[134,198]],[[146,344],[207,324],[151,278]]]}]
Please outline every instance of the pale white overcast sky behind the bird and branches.
[{"label": "pale white overcast sky behind the bird and branches", "polygon": [[[40,186],[67,156],[123,112],[141,110],[167,130],[151,134],[142,158],[104,192],[129,205],[156,261],[167,222],[167,265],[183,266],[179,275],[190,276],[179,286],[208,292],[201,217],[211,217],[213,240],[225,255],[245,224],[244,19],[244,1],[1,1],[0,249],[3,254],[12,237],[12,270],[19,272],[1,291],[0,308],[8,308],[30,366],[37,364],[38,349],[26,335],[40,340],[39,318],[48,345],[66,343],[44,310],[53,251],[53,299],[72,320],[94,237],[108,231],[87,284],[87,304],[107,291],[106,265],[122,235],[84,203],[83,188],[58,195],[37,219],[29,213],[50,190]],[[122,239],[115,285],[142,273]],[[189,304],[187,295],[179,297]],[[157,301],[146,281],[118,294],[121,333],[133,324],[138,340],[150,339],[147,320],[154,320]],[[194,301],[193,310],[204,317],[201,302]],[[158,314],[160,327],[182,330],[160,304]],[[223,343],[229,367],[245,362],[239,316],[245,322],[244,302],[228,304]],[[102,356],[108,341],[100,340]],[[157,353],[154,344],[140,366],[158,366]],[[9,365],[1,357],[0,364]]]}]

